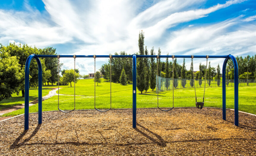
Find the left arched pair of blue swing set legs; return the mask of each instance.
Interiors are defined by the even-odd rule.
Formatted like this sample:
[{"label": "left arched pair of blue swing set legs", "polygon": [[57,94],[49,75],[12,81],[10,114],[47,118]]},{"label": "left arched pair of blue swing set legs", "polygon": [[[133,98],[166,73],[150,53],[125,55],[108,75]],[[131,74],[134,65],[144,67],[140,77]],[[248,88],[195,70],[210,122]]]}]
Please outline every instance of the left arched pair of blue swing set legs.
[{"label": "left arched pair of blue swing set legs", "polygon": [[25,122],[24,130],[29,129],[29,66],[31,59],[35,58],[38,65],[38,123],[42,123],[42,65],[36,55],[32,54],[28,57],[25,64]]}]

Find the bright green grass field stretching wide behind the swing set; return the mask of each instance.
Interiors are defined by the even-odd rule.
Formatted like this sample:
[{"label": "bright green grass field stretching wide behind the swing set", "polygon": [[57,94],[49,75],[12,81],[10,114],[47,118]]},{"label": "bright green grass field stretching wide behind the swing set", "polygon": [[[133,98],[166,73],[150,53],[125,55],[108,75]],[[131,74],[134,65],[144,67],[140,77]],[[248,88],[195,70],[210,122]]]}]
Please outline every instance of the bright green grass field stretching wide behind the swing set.
[{"label": "bright green grass field stretching wide behind the swing set", "polygon": [[[97,85],[97,84],[96,84]],[[73,84],[72,84],[73,86]],[[43,86],[43,94],[50,91],[48,88],[56,86]],[[61,86],[60,94],[73,95],[74,87]],[[203,100],[203,88],[196,88],[198,101]],[[256,87],[244,86],[239,87],[239,110],[256,114]],[[139,94],[137,90],[137,108],[157,107],[157,94],[154,91],[143,92]],[[234,88],[227,87],[226,107],[234,108]],[[30,100],[37,95],[37,91],[30,90]],[[93,79],[79,80],[76,83],[76,109],[94,109],[94,82]],[[194,88],[176,89],[174,91],[174,107],[195,107]],[[15,98],[15,97],[13,97]],[[19,99],[24,103],[24,99]],[[7,103],[7,100],[5,100]],[[58,110],[58,96],[53,96],[42,102],[42,111]],[[3,102],[2,102],[3,103]],[[1,103],[1,104],[2,104]],[[1,105],[0,104],[0,105]],[[222,108],[222,87],[208,87],[205,94],[205,107]],[[73,96],[60,96],[60,108],[70,110],[74,107]],[[96,107],[110,107],[110,83],[103,81],[96,86]],[[172,91],[159,93],[159,107],[172,107]],[[120,83],[112,83],[112,108],[132,108],[132,84],[122,86]],[[37,112],[38,104],[29,107],[29,112]],[[14,116],[23,114],[24,108],[4,114],[3,116]]]}]

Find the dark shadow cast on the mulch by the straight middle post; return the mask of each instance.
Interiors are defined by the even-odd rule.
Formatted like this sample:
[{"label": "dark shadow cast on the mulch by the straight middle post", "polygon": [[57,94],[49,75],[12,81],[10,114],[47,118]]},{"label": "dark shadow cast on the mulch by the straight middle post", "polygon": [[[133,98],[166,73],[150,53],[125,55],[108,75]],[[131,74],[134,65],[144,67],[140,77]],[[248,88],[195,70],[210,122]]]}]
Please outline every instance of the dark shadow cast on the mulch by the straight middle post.
[{"label": "dark shadow cast on the mulch by the straight middle post", "polygon": [[162,147],[166,146],[167,141],[165,141],[160,135],[158,135],[157,133],[154,133],[151,130],[147,129],[146,127],[140,125],[138,122],[136,122],[136,125],[141,127],[142,129],[146,130],[147,132],[155,135],[159,141],[157,141],[156,139],[154,139],[151,136],[147,135],[146,133],[142,132],[138,127],[134,128],[137,132],[139,132],[140,134],[144,135],[150,141],[153,141],[155,144],[157,144],[159,146],[162,146]]}]

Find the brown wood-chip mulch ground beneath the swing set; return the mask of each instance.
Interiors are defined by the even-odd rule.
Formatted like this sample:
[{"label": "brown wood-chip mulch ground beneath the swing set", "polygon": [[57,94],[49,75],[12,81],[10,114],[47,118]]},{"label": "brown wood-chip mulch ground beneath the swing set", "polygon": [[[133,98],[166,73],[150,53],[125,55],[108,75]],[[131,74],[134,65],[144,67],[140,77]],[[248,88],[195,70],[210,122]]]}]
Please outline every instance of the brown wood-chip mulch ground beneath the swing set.
[{"label": "brown wood-chip mulch ground beneath the swing set", "polygon": [[214,108],[29,114],[0,122],[0,155],[256,155],[256,116]]}]

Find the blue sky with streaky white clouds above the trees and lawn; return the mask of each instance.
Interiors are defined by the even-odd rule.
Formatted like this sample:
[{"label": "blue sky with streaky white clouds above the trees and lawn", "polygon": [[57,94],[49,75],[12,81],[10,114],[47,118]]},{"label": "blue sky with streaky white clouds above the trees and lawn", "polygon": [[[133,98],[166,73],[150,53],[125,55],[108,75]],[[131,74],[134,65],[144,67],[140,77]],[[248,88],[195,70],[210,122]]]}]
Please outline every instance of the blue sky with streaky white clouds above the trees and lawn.
[{"label": "blue sky with streaky white clouds above the trees and lawn", "polygon": [[[169,55],[255,55],[255,0],[80,1],[1,0],[0,43],[57,48],[59,54],[100,55],[145,45]],[[72,59],[62,59],[72,68]],[[107,59],[97,59],[97,69]],[[204,59],[195,59],[195,70]],[[223,59],[210,59],[211,66]],[[82,74],[93,59],[77,59]],[[178,59],[182,62],[182,59]],[[186,59],[189,68],[190,59]]]}]

